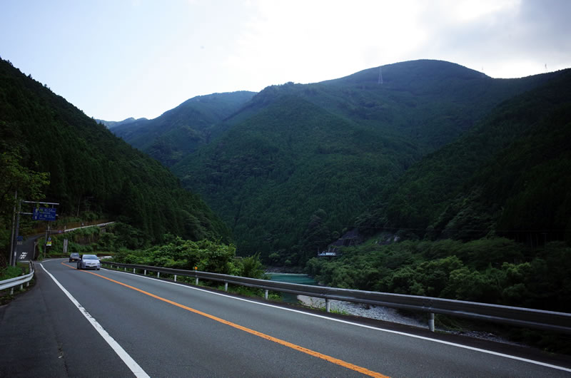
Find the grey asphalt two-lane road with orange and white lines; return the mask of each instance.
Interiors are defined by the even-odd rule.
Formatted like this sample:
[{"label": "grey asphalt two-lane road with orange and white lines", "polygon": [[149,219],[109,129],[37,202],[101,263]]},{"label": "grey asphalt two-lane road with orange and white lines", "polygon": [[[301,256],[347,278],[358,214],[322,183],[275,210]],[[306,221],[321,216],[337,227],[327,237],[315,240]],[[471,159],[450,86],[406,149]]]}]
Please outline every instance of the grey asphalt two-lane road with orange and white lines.
[{"label": "grey asphalt two-lane road with orange and white lines", "polygon": [[535,350],[73,267],[36,264],[0,307],[0,377],[571,377]]}]

